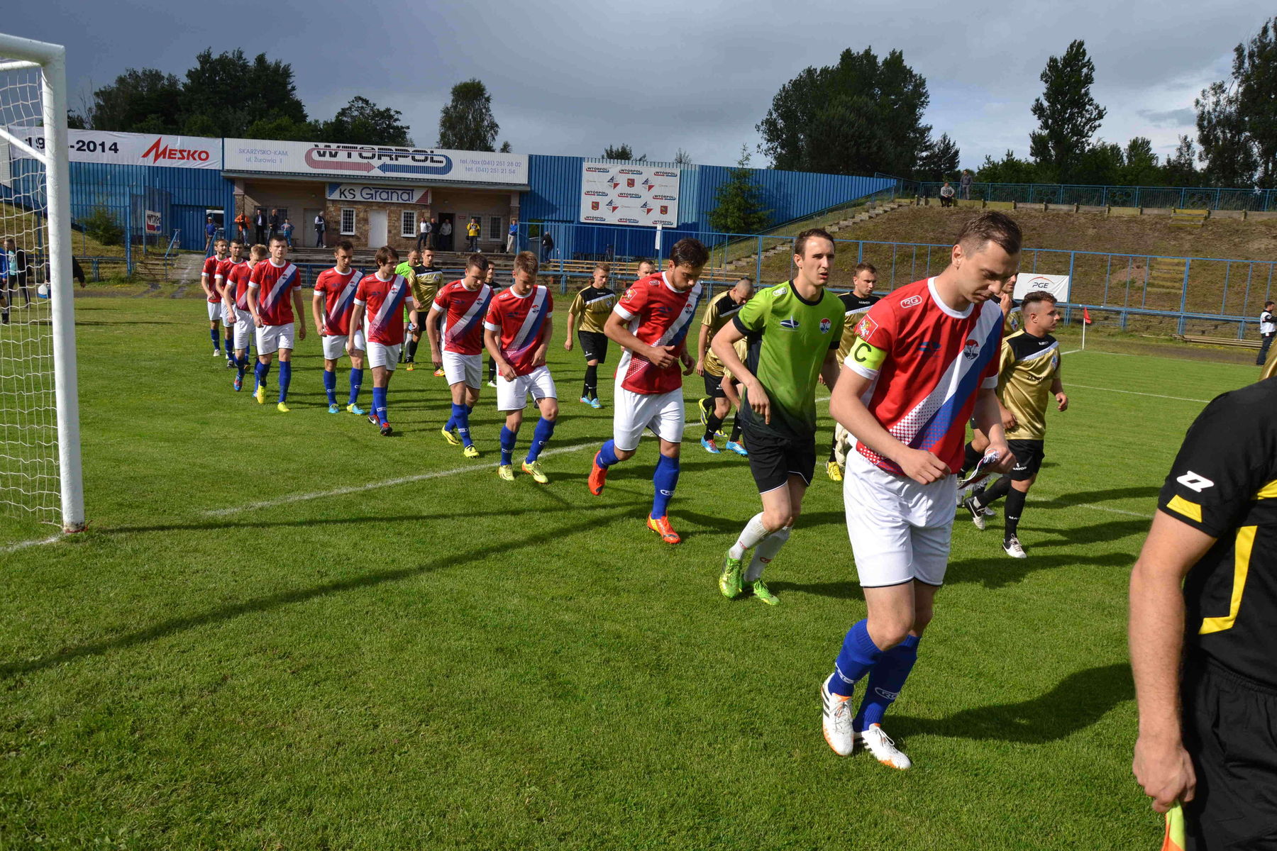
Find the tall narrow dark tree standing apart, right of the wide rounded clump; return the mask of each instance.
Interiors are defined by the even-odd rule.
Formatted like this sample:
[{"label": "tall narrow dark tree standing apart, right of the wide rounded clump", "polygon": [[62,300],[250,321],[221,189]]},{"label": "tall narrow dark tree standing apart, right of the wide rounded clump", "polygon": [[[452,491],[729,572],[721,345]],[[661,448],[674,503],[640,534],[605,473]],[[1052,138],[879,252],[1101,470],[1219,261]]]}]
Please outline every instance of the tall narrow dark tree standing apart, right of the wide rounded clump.
[{"label": "tall narrow dark tree standing apart, right of the wide rounded clump", "polygon": [[1033,101],[1038,129],[1029,134],[1029,156],[1045,179],[1070,182],[1105,117],[1105,108],[1091,97],[1096,65],[1085,42],[1075,40],[1062,56],[1051,56],[1041,79],[1046,88]]}]

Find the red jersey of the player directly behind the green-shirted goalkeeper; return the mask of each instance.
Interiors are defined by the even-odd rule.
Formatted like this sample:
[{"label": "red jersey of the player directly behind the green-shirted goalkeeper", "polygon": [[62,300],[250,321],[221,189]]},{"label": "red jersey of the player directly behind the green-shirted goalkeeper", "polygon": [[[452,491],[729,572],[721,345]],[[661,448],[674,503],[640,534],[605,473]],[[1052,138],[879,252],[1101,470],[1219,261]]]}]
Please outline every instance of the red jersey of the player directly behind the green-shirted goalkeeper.
[{"label": "red jersey of the player directly behind the green-shirted goalkeeper", "polygon": [[613,313],[628,323],[631,334],[649,346],[673,346],[670,353],[676,360],[661,369],[627,348],[617,365],[621,387],[642,394],[669,393],[683,387],[683,367],[677,359],[687,348],[687,330],[700,299],[700,283],[679,292],[664,273],[640,278],[624,291]]}]

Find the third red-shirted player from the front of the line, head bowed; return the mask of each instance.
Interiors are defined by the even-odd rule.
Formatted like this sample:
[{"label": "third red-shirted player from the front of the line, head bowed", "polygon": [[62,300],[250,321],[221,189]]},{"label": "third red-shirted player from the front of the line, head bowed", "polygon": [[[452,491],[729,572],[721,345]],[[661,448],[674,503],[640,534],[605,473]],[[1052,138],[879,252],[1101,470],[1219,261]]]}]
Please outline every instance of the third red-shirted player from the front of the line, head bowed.
[{"label": "third red-shirted player from the front of the line, head bowed", "polygon": [[515,480],[511,457],[518,426],[524,422],[524,408],[531,393],[540,408],[541,418],[533,434],[533,445],[522,470],[541,485],[549,478],[536,458],[554,434],[558,418],[558,392],[545,365],[545,350],[554,333],[554,297],[549,287],[536,283],[536,255],[521,251],[515,256],[515,283],[493,297],[484,316],[484,346],[497,364],[497,410],[506,412],[506,425],[501,429],[501,463],[497,475],[506,481]]}]

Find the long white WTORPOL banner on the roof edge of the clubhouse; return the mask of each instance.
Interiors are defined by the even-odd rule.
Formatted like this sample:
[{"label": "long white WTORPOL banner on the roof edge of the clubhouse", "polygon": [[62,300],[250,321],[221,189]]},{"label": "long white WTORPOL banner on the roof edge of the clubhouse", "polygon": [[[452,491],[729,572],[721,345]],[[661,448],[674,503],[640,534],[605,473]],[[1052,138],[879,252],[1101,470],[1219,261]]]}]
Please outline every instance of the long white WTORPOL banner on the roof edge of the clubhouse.
[{"label": "long white WTORPOL banner on the roof edge of the clubhouse", "polygon": [[470,184],[526,184],[527,157],[490,151],[434,151],[310,142],[226,139],[227,171],[328,177],[398,177]]}]

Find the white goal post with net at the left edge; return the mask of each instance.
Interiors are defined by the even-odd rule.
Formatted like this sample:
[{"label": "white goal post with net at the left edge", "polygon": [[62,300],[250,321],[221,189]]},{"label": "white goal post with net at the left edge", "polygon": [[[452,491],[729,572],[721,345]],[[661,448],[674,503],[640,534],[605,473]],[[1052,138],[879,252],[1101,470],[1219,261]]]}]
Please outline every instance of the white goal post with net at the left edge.
[{"label": "white goal post with net at the left edge", "polygon": [[[15,267],[9,270],[5,296],[14,302],[9,305],[11,314],[19,314],[20,299],[34,299],[29,304],[36,305],[27,306],[20,320],[15,315],[9,324],[0,325],[0,343],[9,336],[11,350],[0,347],[0,360],[13,359],[10,364],[0,364],[0,371],[17,388],[14,393],[32,397],[18,399],[11,407],[0,403],[0,508],[9,508],[17,517],[60,522],[64,532],[79,532],[84,528],[84,481],[66,107],[65,47],[0,33],[0,202],[5,203],[0,230],[6,231],[0,236],[9,237],[8,231],[15,231],[27,237],[24,245],[17,245],[15,240],[13,250],[5,246],[5,267]],[[43,129],[42,147],[28,144],[33,140],[31,135],[22,138],[11,131],[24,124]],[[15,286],[18,282],[26,286]],[[46,283],[47,324],[38,297]],[[42,330],[45,327],[51,339],[42,339],[47,333]],[[49,396],[40,361],[50,357],[51,404],[40,401],[41,394]],[[34,380],[29,378],[32,371],[37,374]],[[0,388],[0,392],[10,390]],[[56,452],[50,443],[56,443]]]}]

